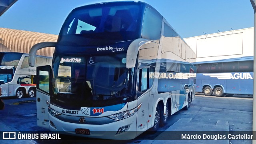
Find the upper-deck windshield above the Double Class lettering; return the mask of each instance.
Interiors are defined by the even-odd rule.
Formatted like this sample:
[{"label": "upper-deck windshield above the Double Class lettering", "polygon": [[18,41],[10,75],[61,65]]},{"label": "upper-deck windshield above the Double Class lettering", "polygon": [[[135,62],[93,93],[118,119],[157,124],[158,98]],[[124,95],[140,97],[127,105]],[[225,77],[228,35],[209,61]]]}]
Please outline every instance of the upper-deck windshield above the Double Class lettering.
[{"label": "upper-deck windshield above the Double Class lettering", "polygon": [[137,39],[140,37],[141,9],[138,4],[98,4],[76,8],[62,26],[59,43],[76,42],[84,46]]}]

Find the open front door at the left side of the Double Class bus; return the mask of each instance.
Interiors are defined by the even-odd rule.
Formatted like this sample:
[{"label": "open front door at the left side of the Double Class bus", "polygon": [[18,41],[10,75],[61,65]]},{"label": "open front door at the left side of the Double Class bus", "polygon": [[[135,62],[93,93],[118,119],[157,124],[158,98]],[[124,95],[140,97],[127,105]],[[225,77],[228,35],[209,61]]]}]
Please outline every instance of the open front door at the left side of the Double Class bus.
[{"label": "open front door at the left side of the Double Class bus", "polygon": [[37,125],[42,128],[50,129],[48,106],[50,102],[50,69],[51,66],[39,66],[36,68],[36,110]]}]

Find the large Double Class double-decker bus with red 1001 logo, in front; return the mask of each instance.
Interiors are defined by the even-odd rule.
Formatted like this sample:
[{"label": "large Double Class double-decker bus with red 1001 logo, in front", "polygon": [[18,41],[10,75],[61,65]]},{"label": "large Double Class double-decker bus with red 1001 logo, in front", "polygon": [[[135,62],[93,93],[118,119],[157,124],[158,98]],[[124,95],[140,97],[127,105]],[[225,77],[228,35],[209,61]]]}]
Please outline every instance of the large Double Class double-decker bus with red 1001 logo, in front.
[{"label": "large Double Class double-decker bus with red 1001 logo, in front", "polygon": [[52,67],[37,67],[38,126],[64,134],[133,139],[158,130],[195,97],[195,53],[152,6],[138,1],[75,8]]}]

